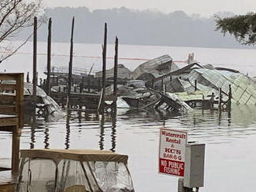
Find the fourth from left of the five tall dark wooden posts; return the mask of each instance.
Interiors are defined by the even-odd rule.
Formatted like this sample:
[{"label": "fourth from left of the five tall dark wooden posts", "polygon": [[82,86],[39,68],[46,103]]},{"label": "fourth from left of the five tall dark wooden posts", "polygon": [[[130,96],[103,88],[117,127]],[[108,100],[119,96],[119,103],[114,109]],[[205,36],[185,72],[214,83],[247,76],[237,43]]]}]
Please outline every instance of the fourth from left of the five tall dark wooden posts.
[{"label": "fourth from left of the five tall dark wooden posts", "polygon": [[105,110],[105,93],[106,93],[106,46],[107,46],[107,24],[105,23],[104,45],[102,50],[102,112]]}]

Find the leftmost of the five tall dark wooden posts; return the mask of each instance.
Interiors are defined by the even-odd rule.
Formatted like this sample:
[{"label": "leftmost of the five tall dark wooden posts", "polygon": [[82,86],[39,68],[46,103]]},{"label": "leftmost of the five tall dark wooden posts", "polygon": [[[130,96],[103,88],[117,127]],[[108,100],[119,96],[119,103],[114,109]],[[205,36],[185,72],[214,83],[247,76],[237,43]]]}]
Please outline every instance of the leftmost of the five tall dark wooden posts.
[{"label": "leftmost of the five tall dark wooden posts", "polygon": [[34,31],[33,31],[33,104],[36,106],[36,55],[37,55],[37,18],[34,17]]}]

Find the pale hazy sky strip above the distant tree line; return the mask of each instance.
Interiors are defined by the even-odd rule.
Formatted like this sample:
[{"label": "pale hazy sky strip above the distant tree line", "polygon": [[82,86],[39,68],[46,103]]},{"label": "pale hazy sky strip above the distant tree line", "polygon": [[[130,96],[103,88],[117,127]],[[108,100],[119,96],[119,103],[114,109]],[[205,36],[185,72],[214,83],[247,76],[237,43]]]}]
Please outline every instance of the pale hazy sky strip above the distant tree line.
[{"label": "pale hazy sky strip above the distant tree line", "polygon": [[256,0],[44,0],[49,7],[86,6],[88,9],[111,9],[122,7],[130,9],[153,9],[161,12],[182,10],[186,13],[199,13],[209,16],[216,12],[236,14],[256,12]]}]

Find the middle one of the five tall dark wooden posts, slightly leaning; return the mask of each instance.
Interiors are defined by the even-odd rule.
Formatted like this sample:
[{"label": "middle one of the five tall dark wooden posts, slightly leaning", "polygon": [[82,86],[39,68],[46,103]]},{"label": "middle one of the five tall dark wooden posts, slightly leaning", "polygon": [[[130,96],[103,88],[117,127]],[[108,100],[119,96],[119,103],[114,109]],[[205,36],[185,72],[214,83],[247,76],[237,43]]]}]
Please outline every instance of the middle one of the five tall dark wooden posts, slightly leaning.
[{"label": "middle one of the five tall dark wooden posts, slightly leaning", "polygon": [[71,107],[71,83],[72,83],[72,64],[73,64],[73,37],[74,37],[74,17],[72,20],[71,29],[71,52],[68,67],[68,82],[67,82],[67,108]]}]

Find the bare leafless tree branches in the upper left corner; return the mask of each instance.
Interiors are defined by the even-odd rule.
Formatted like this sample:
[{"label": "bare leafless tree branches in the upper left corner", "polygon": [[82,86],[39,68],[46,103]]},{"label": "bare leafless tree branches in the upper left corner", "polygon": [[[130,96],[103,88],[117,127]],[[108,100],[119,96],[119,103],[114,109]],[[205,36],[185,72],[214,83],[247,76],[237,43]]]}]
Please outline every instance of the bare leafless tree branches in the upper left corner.
[{"label": "bare leafless tree branches in the upper left corner", "polygon": [[42,1],[0,0],[0,63],[27,42],[29,36],[22,43],[13,43],[13,40],[23,29],[33,26],[35,16],[43,21]]}]

